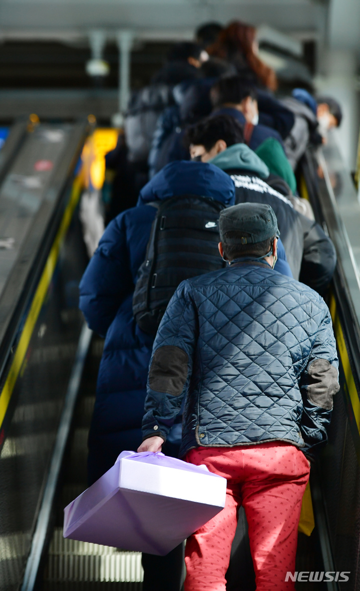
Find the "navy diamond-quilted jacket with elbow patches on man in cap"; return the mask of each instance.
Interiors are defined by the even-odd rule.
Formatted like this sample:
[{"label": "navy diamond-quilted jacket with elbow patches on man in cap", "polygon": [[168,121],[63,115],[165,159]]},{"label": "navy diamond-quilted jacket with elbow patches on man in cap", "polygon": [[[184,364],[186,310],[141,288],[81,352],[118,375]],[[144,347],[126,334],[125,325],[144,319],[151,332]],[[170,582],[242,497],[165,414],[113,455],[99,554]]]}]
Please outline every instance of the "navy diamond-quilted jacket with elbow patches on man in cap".
[{"label": "navy diamond-quilted jacket with elbow patches on man in cap", "polygon": [[143,437],[166,439],[185,397],[181,455],[197,446],[326,440],[338,359],[318,293],[259,262],[182,282],[153,346]]}]

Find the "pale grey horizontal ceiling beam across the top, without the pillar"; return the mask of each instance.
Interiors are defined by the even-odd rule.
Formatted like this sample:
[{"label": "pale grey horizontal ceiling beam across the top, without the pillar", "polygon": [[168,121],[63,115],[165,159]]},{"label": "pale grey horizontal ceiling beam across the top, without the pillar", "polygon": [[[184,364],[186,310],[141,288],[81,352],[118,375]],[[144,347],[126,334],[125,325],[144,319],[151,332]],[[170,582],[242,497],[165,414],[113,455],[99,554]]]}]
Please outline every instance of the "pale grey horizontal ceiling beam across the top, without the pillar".
[{"label": "pale grey horizontal ceiling beam across the top, without the pillar", "polygon": [[310,0],[2,0],[0,37],[75,41],[89,28],[130,28],[138,38],[191,38],[199,24],[234,19],[316,34],[325,15]]}]

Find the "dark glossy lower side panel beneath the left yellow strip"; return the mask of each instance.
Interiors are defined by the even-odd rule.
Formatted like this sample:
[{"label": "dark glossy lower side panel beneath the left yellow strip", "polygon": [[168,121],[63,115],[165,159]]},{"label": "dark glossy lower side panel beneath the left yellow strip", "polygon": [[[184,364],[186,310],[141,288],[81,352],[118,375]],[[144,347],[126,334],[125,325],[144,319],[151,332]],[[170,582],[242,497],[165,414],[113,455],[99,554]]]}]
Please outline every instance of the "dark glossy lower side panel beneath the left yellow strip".
[{"label": "dark glossy lower side panel beneath the left yellow strip", "polygon": [[83,319],[78,282],[86,266],[80,222],[73,216],[32,331],[12,395],[0,454],[0,580],[15,591],[24,575],[64,392]]}]

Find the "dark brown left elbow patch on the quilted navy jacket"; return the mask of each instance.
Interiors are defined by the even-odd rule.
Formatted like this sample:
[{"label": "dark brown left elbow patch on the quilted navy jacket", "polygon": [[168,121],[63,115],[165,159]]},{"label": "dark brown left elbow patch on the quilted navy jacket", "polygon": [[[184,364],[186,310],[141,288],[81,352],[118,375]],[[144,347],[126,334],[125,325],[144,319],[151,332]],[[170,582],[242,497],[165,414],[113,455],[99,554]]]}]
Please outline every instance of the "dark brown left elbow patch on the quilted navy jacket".
[{"label": "dark brown left elbow patch on the quilted navy jacket", "polygon": [[149,371],[149,386],[156,392],[179,396],[188,377],[189,356],[179,347],[156,349]]}]

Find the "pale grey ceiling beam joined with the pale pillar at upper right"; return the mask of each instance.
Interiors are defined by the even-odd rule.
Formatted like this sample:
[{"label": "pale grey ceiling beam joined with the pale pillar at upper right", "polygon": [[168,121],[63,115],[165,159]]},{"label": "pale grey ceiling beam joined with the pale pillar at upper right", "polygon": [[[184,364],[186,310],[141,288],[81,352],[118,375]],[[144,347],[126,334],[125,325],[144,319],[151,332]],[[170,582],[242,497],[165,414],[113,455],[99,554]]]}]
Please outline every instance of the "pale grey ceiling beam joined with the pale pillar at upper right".
[{"label": "pale grey ceiling beam joined with the pale pillar at upper right", "polygon": [[89,49],[91,30],[118,45],[128,31],[136,50],[145,41],[191,39],[205,22],[231,20],[316,41],[315,82],[343,105],[339,139],[352,166],[360,115],[360,0],[0,0],[0,44],[47,40]]}]

